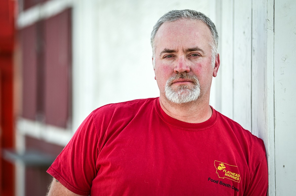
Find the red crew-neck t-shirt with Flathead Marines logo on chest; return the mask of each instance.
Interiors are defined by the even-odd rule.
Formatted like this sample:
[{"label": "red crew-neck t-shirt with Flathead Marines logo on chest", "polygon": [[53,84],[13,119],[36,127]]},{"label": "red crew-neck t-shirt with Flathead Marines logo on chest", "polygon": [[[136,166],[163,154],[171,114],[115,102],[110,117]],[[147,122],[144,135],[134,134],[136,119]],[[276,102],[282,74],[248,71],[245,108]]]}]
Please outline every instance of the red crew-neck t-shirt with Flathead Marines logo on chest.
[{"label": "red crew-neck t-shirt with Flathead Marines logo on chest", "polygon": [[159,98],[93,111],[47,170],[79,195],[266,195],[263,141],[213,109],[202,123]]}]

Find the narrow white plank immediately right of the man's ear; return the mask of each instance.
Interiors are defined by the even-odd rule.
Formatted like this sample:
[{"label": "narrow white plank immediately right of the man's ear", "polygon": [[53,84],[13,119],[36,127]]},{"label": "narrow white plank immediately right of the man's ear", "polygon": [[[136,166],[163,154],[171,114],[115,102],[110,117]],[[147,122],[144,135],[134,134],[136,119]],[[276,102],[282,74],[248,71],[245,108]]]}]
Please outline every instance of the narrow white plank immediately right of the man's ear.
[{"label": "narrow white plank immediately right of the man's ear", "polygon": [[219,53],[221,65],[218,71],[221,86],[221,113],[229,118],[233,115],[233,0],[221,0],[221,32],[219,38]]}]

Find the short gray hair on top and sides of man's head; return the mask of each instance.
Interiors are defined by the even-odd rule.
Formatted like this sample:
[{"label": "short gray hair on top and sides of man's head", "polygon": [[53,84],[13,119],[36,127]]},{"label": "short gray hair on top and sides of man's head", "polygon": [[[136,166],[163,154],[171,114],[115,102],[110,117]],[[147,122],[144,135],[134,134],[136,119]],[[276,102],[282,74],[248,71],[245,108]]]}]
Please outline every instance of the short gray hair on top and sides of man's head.
[{"label": "short gray hair on top and sides of man's head", "polygon": [[[159,27],[165,22],[173,22],[180,19],[200,20],[209,27],[211,31],[212,39],[213,39],[212,42],[209,43],[212,50],[212,67],[215,67],[215,58],[216,58],[216,55],[218,54],[218,32],[217,32],[216,26],[211,21],[211,19],[207,17],[205,14],[198,11],[190,10],[190,9],[172,10],[166,13],[165,15],[163,15],[162,17],[160,17],[160,19],[158,19],[158,21],[153,27],[153,30],[151,32],[151,38],[150,38],[152,53],[153,53],[152,57],[155,56],[154,39]],[[155,58],[153,58],[153,67],[155,67]]]}]

